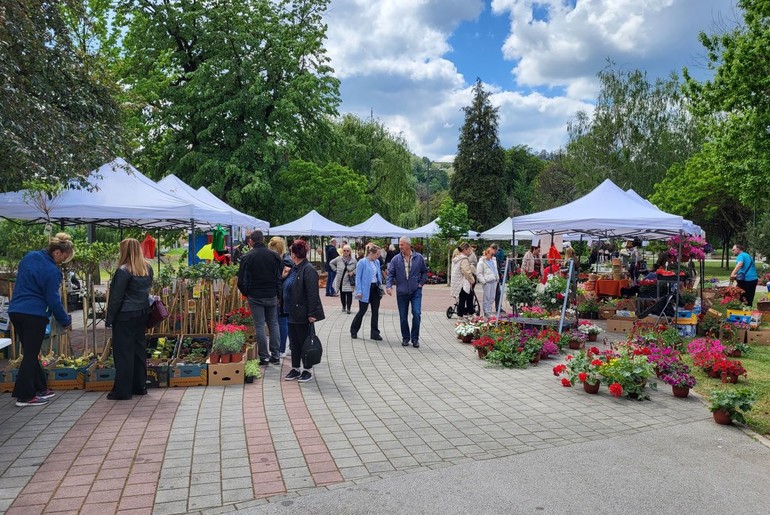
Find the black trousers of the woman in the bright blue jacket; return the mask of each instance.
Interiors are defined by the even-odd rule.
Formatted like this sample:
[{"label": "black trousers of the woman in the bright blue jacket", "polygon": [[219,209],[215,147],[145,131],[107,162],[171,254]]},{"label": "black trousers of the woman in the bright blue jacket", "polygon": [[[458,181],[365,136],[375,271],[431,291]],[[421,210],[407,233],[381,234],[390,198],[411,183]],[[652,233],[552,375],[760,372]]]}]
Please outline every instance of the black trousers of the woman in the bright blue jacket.
[{"label": "black trousers of the woman in the bright blue jacket", "polygon": [[10,313],[9,317],[24,353],[13,385],[13,396],[20,401],[28,401],[47,388],[45,371],[38,355],[43,346],[48,319],[23,313]]}]

